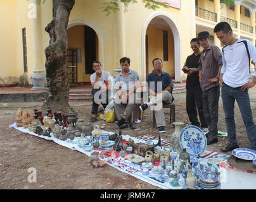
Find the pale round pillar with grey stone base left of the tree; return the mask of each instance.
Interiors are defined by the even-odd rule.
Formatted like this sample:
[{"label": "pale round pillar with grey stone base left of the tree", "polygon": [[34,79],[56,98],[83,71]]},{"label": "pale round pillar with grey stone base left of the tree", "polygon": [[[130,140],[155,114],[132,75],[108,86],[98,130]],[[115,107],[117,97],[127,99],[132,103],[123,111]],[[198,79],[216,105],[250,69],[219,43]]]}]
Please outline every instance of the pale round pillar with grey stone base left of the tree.
[{"label": "pale round pillar with grey stone base left of the tree", "polygon": [[32,18],[32,40],[33,40],[33,75],[31,81],[33,87],[31,90],[46,90],[44,84],[46,82],[45,68],[42,68],[42,37],[41,37],[41,6],[32,0],[36,5],[36,17]]}]

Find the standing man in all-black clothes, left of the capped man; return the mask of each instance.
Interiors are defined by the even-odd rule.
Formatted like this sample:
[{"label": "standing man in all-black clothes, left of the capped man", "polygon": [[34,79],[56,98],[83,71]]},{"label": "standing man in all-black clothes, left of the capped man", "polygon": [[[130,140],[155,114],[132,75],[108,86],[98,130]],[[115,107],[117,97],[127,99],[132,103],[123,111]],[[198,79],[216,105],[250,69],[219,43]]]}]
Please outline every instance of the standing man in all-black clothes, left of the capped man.
[{"label": "standing man in all-black clothes, left of the capped man", "polygon": [[[198,77],[198,61],[200,59],[200,43],[197,38],[193,38],[190,41],[191,49],[193,54],[188,56],[182,71],[188,74],[186,81],[186,110],[188,113],[189,121],[192,125],[201,127],[204,133],[208,132],[208,125],[203,115],[203,100],[202,100],[202,89],[199,83]],[[197,118],[197,110],[200,117],[200,122]]]}]

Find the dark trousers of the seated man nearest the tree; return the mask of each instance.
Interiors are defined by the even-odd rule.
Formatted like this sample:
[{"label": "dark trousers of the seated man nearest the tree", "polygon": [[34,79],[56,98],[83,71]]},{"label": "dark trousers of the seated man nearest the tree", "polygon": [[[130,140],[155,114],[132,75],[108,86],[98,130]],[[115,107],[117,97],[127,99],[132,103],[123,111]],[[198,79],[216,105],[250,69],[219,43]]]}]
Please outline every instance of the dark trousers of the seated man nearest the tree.
[{"label": "dark trousers of the seated man nearest the tree", "polygon": [[91,108],[92,114],[98,114],[99,105],[97,104],[98,102],[96,102],[98,99],[104,108],[106,107],[106,105],[108,105],[108,90],[101,94],[96,93],[99,90],[100,89],[92,89],[91,90],[91,94],[93,95],[93,105]]}]

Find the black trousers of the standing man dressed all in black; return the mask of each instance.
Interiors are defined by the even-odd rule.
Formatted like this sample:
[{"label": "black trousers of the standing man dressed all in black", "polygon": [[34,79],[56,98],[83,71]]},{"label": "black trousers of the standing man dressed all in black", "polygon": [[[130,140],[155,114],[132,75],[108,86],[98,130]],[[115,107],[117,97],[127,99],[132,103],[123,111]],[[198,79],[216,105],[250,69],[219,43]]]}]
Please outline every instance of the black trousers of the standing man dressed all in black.
[{"label": "black trousers of the standing man dressed all in black", "polygon": [[[187,88],[186,93],[186,110],[188,113],[189,121],[192,125],[200,128],[207,128],[208,124],[205,121],[205,116],[203,114],[203,99],[202,99],[202,89],[200,86]],[[198,116],[200,122],[198,121]]]}]

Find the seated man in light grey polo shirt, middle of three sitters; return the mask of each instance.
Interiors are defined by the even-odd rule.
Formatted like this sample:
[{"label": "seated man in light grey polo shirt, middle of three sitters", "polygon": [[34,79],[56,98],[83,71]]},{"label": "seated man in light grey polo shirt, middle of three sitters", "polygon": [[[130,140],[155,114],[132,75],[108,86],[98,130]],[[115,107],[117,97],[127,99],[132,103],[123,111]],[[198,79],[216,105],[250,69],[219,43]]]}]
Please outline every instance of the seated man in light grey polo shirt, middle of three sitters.
[{"label": "seated man in light grey polo shirt, middle of three sitters", "polygon": [[136,107],[135,92],[139,87],[139,74],[130,69],[130,62],[128,57],[122,57],[120,59],[122,71],[115,77],[117,97],[115,98],[114,109],[119,129],[128,128],[126,122],[130,122],[130,128],[135,129],[134,122],[131,122],[131,115]]}]

